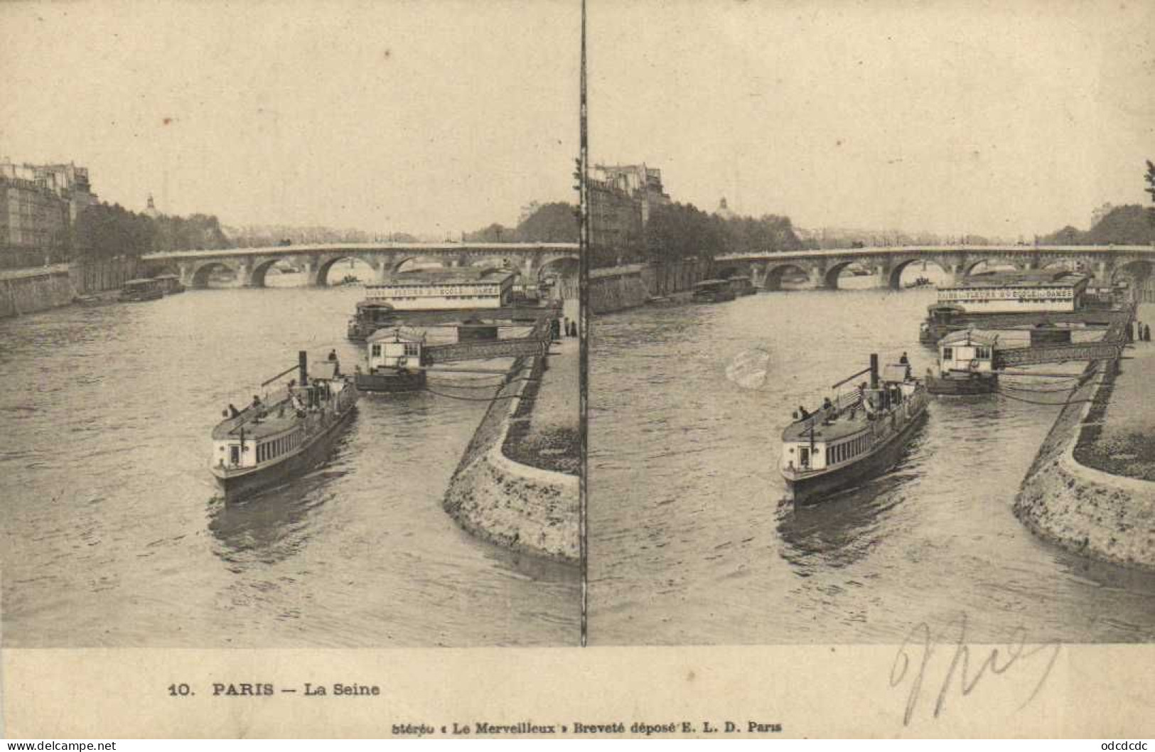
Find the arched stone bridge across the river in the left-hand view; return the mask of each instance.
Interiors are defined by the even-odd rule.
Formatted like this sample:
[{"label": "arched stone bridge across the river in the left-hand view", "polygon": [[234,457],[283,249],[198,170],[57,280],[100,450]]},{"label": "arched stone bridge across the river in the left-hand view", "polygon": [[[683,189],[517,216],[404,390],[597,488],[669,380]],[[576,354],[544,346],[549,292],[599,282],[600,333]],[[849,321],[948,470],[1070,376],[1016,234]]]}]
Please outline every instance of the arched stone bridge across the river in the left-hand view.
[{"label": "arched stone bridge across the river in the left-hand view", "polygon": [[268,248],[174,251],[141,256],[152,274],[178,274],[189,288],[209,286],[214,270],[230,269],[245,286],[264,286],[264,275],[288,261],[308,275],[308,284],[326,285],[337,262],[358,259],[373,267],[377,281],[415,265],[508,267],[527,278],[549,271],[576,277],[576,243],[342,243]]}]

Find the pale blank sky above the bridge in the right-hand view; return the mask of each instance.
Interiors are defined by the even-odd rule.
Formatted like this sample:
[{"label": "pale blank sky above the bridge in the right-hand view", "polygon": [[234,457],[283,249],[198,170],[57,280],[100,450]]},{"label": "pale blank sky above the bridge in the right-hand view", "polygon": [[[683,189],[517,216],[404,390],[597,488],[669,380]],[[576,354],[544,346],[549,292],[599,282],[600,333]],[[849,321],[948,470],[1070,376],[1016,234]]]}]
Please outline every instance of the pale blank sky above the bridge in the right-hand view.
[{"label": "pale blank sky above the bridge in the right-hand view", "polygon": [[591,0],[590,149],[804,228],[1016,237],[1149,202],[1152,2]]}]

